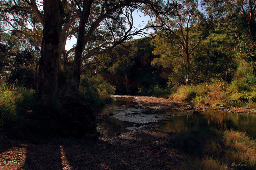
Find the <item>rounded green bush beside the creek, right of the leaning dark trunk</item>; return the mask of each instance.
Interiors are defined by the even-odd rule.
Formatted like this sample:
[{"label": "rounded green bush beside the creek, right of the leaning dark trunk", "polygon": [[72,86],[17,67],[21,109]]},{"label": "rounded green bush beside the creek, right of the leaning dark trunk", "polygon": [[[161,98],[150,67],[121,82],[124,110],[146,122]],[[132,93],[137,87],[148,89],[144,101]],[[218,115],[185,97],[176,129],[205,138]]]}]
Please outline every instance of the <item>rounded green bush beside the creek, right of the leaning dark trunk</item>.
[{"label": "rounded green bush beside the creek, right of the leaning dark trunk", "polygon": [[81,75],[79,86],[79,98],[96,105],[106,104],[111,101],[111,94],[115,93],[115,87],[97,74]]}]

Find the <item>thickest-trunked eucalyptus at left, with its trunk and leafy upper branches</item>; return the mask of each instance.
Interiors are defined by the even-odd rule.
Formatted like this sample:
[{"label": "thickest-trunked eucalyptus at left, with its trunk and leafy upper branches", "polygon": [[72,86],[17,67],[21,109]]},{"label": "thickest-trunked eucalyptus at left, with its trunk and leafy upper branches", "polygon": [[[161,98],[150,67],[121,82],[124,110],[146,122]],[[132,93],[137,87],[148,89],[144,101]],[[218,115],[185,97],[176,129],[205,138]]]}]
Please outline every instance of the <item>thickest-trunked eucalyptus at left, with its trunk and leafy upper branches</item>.
[{"label": "thickest-trunked eucalyptus at left, with its trunk and leafy upper branches", "polygon": [[66,41],[77,30],[74,27],[79,17],[76,5],[65,0],[4,0],[1,3],[0,21],[4,25],[1,32],[18,33],[19,39],[29,39],[41,47],[36,94],[42,101],[52,101],[57,96],[61,55],[65,70]]}]

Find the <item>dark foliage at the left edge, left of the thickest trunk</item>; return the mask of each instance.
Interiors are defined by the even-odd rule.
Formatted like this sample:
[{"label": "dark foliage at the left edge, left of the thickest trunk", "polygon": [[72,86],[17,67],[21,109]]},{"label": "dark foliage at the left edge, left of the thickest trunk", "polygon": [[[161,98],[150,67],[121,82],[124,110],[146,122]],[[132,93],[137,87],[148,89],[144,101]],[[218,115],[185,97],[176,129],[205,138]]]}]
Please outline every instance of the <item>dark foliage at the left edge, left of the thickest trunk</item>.
[{"label": "dark foliage at the left edge, left of the thickest trunk", "polygon": [[17,37],[17,34],[0,33],[0,79],[35,88],[40,50],[28,40],[18,41]]}]

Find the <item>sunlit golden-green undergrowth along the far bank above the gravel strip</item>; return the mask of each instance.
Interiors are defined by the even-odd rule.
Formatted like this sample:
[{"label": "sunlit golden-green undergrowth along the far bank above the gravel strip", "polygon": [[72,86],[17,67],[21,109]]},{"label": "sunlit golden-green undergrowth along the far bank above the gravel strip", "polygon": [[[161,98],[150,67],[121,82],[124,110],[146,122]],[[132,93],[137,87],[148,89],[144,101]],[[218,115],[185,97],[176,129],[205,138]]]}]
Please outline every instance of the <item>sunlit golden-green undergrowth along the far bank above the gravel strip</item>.
[{"label": "sunlit golden-green undergrowth along the far bank above the gravel strip", "polygon": [[181,85],[170,98],[196,104],[209,103],[213,107],[248,107],[256,109],[256,86],[241,81],[218,81],[197,85]]}]

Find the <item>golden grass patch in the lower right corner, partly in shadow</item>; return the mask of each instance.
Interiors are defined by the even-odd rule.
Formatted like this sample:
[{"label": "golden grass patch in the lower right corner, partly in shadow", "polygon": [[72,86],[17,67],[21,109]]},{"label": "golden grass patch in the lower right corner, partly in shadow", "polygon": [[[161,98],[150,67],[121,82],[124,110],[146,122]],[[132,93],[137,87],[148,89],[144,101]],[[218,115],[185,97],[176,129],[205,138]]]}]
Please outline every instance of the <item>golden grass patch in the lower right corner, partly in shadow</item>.
[{"label": "golden grass patch in the lower right corner, partly in shadow", "polygon": [[255,169],[256,142],[235,130],[192,130],[177,133],[174,146],[194,159],[180,169]]}]

